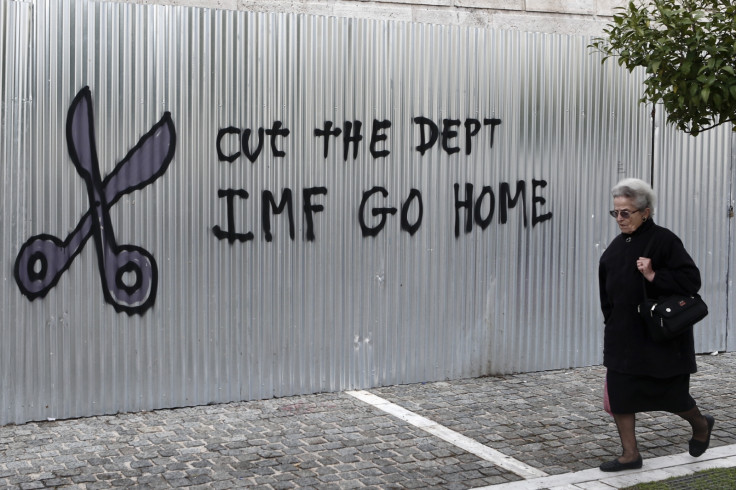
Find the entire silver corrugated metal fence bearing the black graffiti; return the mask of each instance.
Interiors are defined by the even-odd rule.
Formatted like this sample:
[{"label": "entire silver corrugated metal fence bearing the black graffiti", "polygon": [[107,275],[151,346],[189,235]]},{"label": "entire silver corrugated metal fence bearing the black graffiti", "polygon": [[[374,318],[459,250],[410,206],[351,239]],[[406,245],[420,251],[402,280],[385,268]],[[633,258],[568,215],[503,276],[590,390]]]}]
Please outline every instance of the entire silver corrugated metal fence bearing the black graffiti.
[{"label": "entire silver corrugated metal fence bearing the black graffiti", "polygon": [[[92,0],[0,25],[0,425],[600,362],[608,190],[652,140],[588,39]],[[733,333],[728,129],[657,133],[703,350]]]}]

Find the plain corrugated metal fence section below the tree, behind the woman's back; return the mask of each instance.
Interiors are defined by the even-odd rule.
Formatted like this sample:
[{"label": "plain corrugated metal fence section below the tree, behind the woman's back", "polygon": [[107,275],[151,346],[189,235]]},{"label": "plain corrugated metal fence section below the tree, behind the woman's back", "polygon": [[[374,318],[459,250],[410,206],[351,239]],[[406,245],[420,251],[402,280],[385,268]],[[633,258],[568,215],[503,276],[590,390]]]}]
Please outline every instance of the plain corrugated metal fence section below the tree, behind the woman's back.
[{"label": "plain corrugated metal fence section below the tree, behind the woman's back", "polygon": [[734,304],[728,267],[733,253],[734,141],[731,124],[692,137],[665,123],[664,112],[657,111],[655,219],[682,238],[700,267],[708,316],[695,328],[695,339],[703,353],[732,349],[727,340],[733,329],[729,305]]}]

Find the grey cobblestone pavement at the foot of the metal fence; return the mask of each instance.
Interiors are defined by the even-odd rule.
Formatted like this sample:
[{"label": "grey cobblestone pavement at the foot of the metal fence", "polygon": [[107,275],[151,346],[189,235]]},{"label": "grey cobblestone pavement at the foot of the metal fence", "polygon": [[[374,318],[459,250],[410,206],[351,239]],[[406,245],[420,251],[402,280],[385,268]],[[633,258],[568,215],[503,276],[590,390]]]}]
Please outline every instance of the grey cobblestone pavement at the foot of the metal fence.
[{"label": "grey cobblestone pavement at the foot of the metal fence", "polygon": [[[711,447],[736,444],[736,353],[699,356],[698,365],[692,394],[716,417]],[[604,373],[596,366],[367,390],[429,419],[444,438],[351,392],[5,426],[0,487],[523,485],[518,471],[453,443],[456,435],[542,475],[598,471],[620,451],[601,408]],[[671,414],[637,419],[645,467],[687,451],[690,435]]]}]

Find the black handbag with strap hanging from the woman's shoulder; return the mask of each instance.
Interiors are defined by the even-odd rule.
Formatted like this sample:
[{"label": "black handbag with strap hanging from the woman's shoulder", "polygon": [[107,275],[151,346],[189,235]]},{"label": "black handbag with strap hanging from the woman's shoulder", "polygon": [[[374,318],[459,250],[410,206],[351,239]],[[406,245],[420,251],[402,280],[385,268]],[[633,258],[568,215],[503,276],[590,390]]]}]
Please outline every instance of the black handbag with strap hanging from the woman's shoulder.
[{"label": "black handbag with strap hanging from the woman's shoulder", "polygon": [[[644,249],[649,256],[654,235]],[[646,279],[642,277],[644,302],[638,306],[639,316],[644,319],[649,337],[655,342],[664,342],[682,335],[708,315],[708,305],[699,294],[674,294],[658,300],[647,296]]]}]

